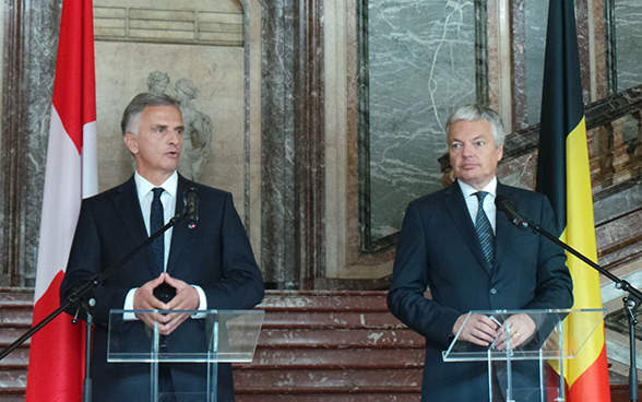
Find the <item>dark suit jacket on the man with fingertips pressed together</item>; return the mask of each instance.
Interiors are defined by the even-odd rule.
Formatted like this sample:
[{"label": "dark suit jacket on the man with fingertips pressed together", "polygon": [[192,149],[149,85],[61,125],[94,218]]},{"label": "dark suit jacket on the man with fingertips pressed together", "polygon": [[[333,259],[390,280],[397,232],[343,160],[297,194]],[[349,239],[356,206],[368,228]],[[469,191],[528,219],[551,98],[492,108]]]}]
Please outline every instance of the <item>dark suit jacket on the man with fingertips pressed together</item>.
[{"label": "dark suit jacket on the man with fingertips pressed together", "polygon": [[[179,175],[176,213],[182,212],[181,197],[189,187],[197,187],[200,193],[199,224],[193,229],[188,229],[185,223],[174,227],[167,273],[201,286],[209,309],[254,307],[263,298],[263,280],[231,194],[191,182]],[[60,287],[61,299],[119,261],[146,238],[133,176],[118,187],[83,200]],[[143,401],[150,398],[148,364],[107,363],[107,326],[109,310],[124,306],[129,289],[157,275],[152,248],[146,247],[95,289],[94,401]],[[168,348],[176,351],[188,344],[205,342],[203,321],[185,321],[167,336]],[[143,327],[140,321],[131,324]],[[175,391],[204,392],[204,367],[202,364],[173,364]],[[218,398],[221,401],[233,401],[231,367],[228,364],[219,364],[218,367]]]}]

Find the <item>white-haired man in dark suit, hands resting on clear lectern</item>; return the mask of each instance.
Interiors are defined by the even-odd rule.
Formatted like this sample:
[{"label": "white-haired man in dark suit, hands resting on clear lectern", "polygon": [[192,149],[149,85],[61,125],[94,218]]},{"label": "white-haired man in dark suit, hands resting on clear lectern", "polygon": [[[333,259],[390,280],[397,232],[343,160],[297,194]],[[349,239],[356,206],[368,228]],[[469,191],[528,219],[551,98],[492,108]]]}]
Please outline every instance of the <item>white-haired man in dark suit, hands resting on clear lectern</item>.
[{"label": "white-haired man in dark suit, hands resting on clear lectern", "polygon": [[[463,106],[445,129],[456,181],[408,205],[388,306],[426,336],[423,401],[485,401],[487,364],[444,363],[441,356],[467,312],[569,308],[572,281],[561,248],[498,216],[495,198],[503,194],[544,229],[558,233],[546,197],[497,181],[504,138],[499,115],[478,105]],[[431,299],[424,296],[427,287]],[[512,347],[528,341],[536,330],[527,315],[514,315],[509,322]],[[480,347],[497,339],[496,346],[506,346],[503,328],[485,315],[473,315],[459,339]],[[537,364],[513,365],[515,387],[536,389],[537,379]],[[501,393],[494,392],[496,397],[501,400]],[[538,401],[539,394],[527,400]]]}]

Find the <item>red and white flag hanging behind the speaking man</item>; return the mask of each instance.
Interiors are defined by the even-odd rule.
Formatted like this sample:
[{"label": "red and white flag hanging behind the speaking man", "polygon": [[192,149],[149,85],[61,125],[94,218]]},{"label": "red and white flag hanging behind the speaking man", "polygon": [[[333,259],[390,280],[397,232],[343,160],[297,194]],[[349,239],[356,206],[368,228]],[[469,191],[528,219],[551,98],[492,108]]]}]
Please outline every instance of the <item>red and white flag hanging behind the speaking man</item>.
[{"label": "red and white flag hanging behind the speaking man", "polygon": [[[92,0],[63,0],[45,193],[34,323],[59,307],[81,200],[97,192],[96,85]],[[84,326],[58,316],[32,339],[27,402],[82,400]]]}]

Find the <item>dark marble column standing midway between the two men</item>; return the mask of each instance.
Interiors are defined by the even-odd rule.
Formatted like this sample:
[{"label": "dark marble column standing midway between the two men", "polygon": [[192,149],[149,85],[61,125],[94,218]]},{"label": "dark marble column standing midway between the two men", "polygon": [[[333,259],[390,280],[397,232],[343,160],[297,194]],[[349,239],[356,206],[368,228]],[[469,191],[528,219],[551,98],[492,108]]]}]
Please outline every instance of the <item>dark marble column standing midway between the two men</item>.
[{"label": "dark marble column standing midway between the two men", "polygon": [[263,7],[261,263],[271,286],[313,288],[325,270],[322,1]]}]

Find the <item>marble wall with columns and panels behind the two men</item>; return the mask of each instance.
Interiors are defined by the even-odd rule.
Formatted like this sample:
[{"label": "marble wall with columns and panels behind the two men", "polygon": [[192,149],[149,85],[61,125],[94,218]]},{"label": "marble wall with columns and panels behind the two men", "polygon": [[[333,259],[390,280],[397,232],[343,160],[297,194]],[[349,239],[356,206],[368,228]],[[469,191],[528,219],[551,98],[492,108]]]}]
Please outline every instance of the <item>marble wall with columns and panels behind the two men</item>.
[{"label": "marble wall with columns and panels behind the two men", "polygon": [[[610,1],[629,10],[625,16],[638,7]],[[407,202],[441,188],[437,158],[452,108],[487,99],[513,128],[538,118],[539,3],[95,0],[114,9],[96,13],[100,190],[132,172],[118,131],[127,102],[146,90],[153,71],[169,75],[169,91],[188,79],[199,90],[194,108],[214,126],[201,181],[235,196],[269,285],[384,288]],[[0,285],[29,285],[61,1],[5,4]],[[238,26],[231,36],[213,35],[221,4],[242,10],[242,44]],[[605,83],[604,4],[578,4],[595,99]],[[205,25],[195,10],[206,13]],[[127,20],[128,12],[136,16]],[[635,37],[638,22],[617,21],[629,32],[618,40]],[[622,76],[637,73],[640,63],[625,61]],[[512,159],[504,181],[528,187],[533,163]],[[388,243],[367,250],[366,237]],[[365,279],[371,282],[350,282]]]}]

